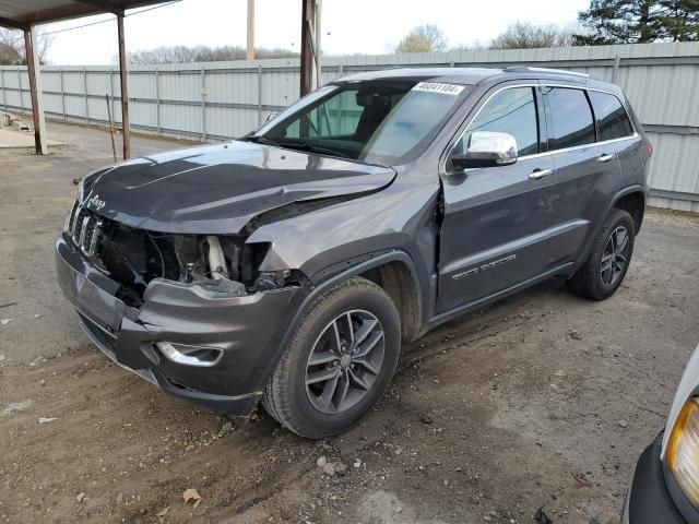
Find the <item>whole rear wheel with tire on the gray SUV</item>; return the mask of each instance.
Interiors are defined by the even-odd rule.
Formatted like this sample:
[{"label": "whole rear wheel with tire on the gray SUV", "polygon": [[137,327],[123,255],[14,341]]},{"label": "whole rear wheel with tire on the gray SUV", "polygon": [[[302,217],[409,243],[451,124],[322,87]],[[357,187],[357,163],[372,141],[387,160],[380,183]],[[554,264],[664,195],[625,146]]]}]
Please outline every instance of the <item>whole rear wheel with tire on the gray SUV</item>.
[{"label": "whole rear wheel with tire on the gray SUV", "polygon": [[568,281],[568,288],[592,300],[604,300],[614,295],[629,269],[635,237],[631,215],[624,210],[612,210],[588,259]]}]

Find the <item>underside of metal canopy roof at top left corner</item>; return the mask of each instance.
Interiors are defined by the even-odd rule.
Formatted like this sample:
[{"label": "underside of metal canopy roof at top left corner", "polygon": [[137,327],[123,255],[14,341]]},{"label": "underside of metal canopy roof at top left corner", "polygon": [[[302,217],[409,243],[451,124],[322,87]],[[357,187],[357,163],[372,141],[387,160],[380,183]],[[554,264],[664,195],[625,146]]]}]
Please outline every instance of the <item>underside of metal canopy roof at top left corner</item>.
[{"label": "underside of metal canopy roof at top left corner", "polygon": [[164,0],[0,0],[0,26],[26,29],[31,25],[99,13],[123,14]]}]

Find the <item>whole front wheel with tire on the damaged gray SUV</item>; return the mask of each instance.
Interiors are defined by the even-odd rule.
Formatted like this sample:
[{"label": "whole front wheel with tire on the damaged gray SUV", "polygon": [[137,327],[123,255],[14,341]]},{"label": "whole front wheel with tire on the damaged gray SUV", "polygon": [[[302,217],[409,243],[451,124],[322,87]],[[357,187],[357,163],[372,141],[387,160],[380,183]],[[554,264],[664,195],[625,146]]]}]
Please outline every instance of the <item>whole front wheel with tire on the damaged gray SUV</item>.
[{"label": "whole front wheel with tire on the damaged gray SUV", "polygon": [[[301,437],[321,439],[346,431],[388,388],[400,348],[401,322],[391,298],[372,282],[350,278],[306,312],[263,392],[262,405]],[[327,379],[331,373],[337,379]]]}]

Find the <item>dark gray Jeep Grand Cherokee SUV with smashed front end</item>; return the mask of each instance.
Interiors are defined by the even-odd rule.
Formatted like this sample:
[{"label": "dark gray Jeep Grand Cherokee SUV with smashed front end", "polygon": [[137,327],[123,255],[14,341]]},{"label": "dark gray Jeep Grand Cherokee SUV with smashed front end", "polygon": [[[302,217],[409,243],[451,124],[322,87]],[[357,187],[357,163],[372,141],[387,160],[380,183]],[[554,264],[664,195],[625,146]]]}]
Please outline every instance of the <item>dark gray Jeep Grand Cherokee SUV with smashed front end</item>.
[{"label": "dark gray Jeep Grand Cherokee SUV with smashed front end", "polygon": [[239,140],[86,176],[58,278],[119,365],[322,438],[377,403],[402,341],[553,276],[611,296],[651,153],[583,74],[356,74]]}]

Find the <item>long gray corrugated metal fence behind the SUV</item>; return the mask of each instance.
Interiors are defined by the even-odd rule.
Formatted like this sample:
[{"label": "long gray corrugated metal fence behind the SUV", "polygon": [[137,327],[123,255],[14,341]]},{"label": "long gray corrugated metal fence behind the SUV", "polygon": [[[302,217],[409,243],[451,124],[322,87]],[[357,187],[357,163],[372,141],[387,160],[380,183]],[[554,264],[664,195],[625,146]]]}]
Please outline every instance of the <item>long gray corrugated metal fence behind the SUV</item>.
[{"label": "long gray corrugated metal fence behind the SUV", "polygon": [[[447,53],[327,57],[322,81],[396,67],[532,64],[582,71],[619,84],[654,146],[651,204],[699,212],[699,43]],[[49,117],[119,122],[119,75],[109,67],[42,68]],[[134,130],[204,141],[242,135],[298,98],[297,59],[134,66],[129,71]],[[25,68],[0,68],[0,107],[31,111]]]}]

